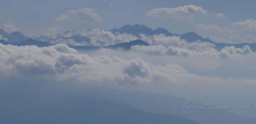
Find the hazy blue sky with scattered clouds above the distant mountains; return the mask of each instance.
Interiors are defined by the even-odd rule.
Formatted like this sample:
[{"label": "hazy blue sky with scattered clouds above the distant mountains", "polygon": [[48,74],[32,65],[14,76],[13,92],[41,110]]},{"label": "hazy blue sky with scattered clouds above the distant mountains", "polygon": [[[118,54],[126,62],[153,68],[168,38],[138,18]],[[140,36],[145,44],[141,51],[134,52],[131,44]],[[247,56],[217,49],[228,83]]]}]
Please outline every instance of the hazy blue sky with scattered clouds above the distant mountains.
[{"label": "hazy blue sky with scattered clouds above the distant mountains", "polygon": [[[255,25],[255,1],[2,0],[1,3],[0,28],[9,32],[18,30],[27,36],[45,35],[51,28],[57,33],[68,30],[82,32],[95,28],[110,30],[138,23],[153,29],[164,27],[177,34],[194,31],[215,42],[256,41],[255,27],[248,30],[234,24],[251,19],[250,22]],[[190,11],[189,5],[202,10]],[[189,13],[184,12],[186,8]],[[68,14],[70,10],[77,13]],[[96,17],[93,18],[93,14]],[[59,18],[60,15],[62,18]],[[68,18],[63,19],[63,15],[68,15]]]}]

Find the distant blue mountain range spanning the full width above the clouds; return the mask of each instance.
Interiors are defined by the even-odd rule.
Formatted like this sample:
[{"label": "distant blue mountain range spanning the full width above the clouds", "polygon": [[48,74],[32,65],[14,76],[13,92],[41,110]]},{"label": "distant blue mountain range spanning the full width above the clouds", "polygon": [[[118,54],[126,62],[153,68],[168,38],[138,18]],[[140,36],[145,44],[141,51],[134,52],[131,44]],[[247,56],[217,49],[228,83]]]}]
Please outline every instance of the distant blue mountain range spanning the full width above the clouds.
[{"label": "distant blue mountain range spanning the full width above the clouds", "polygon": [[[208,38],[203,38],[200,35],[197,35],[195,32],[188,32],[185,34],[172,34],[171,32],[169,32],[168,30],[158,27],[155,30],[145,26],[145,25],[139,25],[139,24],[135,24],[135,25],[124,25],[123,27],[120,27],[119,29],[114,28],[111,29],[110,32],[112,33],[118,33],[118,34],[132,34],[135,35],[137,37],[140,38],[140,34],[145,34],[145,35],[158,35],[158,34],[164,34],[166,36],[179,36],[181,39],[185,39],[187,40],[189,43],[192,43],[194,41],[198,41],[200,40],[201,42],[209,42],[215,45],[215,49],[216,50],[221,50],[223,49],[225,46],[235,46],[236,48],[243,48],[244,46],[248,45],[252,51],[256,51],[256,43],[240,43],[240,44],[228,44],[228,43],[217,43],[214,42]],[[7,38],[8,41],[3,41],[1,40],[1,43],[3,44],[13,44],[13,45],[36,45],[38,47],[44,47],[44,46],[49,46],[52,45],[50,43],[51,40],[56,40],[58,38],[62,38],[62,39],[72,39],[74,41],[76,41],[77,43],[81,43],[81,42],[87,42],[89,44],[89,46],[70,46],[72,48],[75,48],[77,50],[95,50],[98,49],[100,47],[95,47],[95,46],[91,46],[90,41],[91,39],[85,36],[81,36],[79,34],[76,34],[74,31],[67,31],[64,32],[62,34],[57,35],[56,39],[50,39],[46,36],[40,36],[40,37],[33,37],[33,39],[29,39],[28,37],[26,37],[25,35],[23,35],[21,32],[13,32],[11,34],[6,33],[4,30],[0,30],[0,35],[2,35],[3,38]],[[68,37],[69,36],[69,37]],[[24,42],[25,40],[27,40],[26,42]],[[35,43],[32,43],[32,40]],[[42,43],[45,42],[45,43]],[[6,43],[7,42],[7,43]],[[28,43],[28,44],[26,44]],[[47,44],[48,43],[48,44]],[[101,45],[104,45],[104,42],[102,41],[98,41],[98,43],[100,43]],[[132,42],[134,43],[134,42]],[[129,48],[131,47],[131,45],[133,45],[132,43],[123,43],[123,44],[114,44],[114,45],[110,45],[107,46],[107,48],[123,48],[125,50],[129,50]],[[140,44],[142,43],[142,44]],[[144,42],[138,42],[136,43],[136,45],[145,45],[147,43]],[[126,46],[127,45],[127,46]]]}]

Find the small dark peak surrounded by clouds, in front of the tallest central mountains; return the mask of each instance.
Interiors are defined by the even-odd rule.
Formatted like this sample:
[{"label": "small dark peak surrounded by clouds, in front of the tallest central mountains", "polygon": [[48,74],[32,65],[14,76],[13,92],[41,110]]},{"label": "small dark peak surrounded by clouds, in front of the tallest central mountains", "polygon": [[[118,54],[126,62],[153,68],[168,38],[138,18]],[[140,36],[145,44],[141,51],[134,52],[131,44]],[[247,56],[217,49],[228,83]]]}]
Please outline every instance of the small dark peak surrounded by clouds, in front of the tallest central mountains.
[{"label": "small dark peak surrounded by clouds, in front of the tallest central mountains", "polygon": [[111,48],[111,49],[123,48],[124,50],[130,50],[131,47],[134,45],[149,46],[149,44],[147,42],[137,39],[137,40],[130,41],[130,42],[119,43],[116,45],[110,45],[110,46],[107,46],[106,48]]}]

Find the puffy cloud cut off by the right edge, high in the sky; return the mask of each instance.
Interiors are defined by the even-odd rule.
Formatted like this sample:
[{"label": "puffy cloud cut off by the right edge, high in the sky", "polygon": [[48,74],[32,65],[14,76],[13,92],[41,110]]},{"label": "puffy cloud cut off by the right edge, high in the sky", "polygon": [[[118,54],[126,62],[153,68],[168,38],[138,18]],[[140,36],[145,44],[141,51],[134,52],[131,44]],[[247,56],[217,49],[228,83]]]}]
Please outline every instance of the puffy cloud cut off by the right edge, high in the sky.
[{"label": "puffy cloud cut off by the right edge, high in the sky", "polygon": [[245,21],[234,22],[231,24],[233,27],[241,27],[246,31],[255,31],[256,30],[256,21],[254,19],[247,19]]}]

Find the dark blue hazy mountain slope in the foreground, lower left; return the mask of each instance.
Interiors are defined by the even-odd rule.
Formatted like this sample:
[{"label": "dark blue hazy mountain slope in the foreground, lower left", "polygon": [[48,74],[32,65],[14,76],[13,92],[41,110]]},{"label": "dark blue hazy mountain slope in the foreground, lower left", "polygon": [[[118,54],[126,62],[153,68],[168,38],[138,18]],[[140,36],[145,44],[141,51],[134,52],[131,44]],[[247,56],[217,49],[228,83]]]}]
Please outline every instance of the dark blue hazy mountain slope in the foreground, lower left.
[{"label": "dark blue hazy mountain slope in the foreground, lower left", "polygon": [[87,94],[76,92],[72,85],[66,90],[65,83],[58,86],[35,83],[17,83],[16,87],[12,83],[0,84],[4,86],[0,87],[1,123],[199,124],[172,114],[145,112],[126,104],[87,97]]}]

